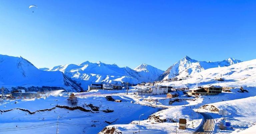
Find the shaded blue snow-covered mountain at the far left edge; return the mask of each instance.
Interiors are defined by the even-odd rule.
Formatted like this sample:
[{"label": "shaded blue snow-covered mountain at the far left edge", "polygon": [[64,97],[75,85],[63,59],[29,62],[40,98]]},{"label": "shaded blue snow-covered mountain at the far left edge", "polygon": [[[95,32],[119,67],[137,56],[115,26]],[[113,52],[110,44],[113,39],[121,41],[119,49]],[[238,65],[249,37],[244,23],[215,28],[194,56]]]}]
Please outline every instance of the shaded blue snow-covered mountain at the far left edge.
[{"label": "shaded blue snow-covered mountain at the far left edge", "polygon": [[67,91],[80,91],[81,87],[60,71],[42,71],[22,57],[0,55],[0,85],[13,87],[62,87]]}]

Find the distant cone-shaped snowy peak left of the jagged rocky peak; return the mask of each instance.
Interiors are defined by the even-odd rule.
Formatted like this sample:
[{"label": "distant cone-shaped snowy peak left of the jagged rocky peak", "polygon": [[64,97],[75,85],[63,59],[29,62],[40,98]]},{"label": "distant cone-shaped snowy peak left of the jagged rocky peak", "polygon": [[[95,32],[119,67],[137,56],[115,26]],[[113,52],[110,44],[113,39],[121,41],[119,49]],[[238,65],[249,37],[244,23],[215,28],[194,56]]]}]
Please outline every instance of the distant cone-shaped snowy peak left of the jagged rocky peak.
[{"label": "distant cone-shaped snowy peak left of the jagged rocky peak", "polygon": [[164,71],[157,69],[151,65],[141,64],[134,69],[139,72],[140,76],[145,78],[145,82],[155,81]]}]

